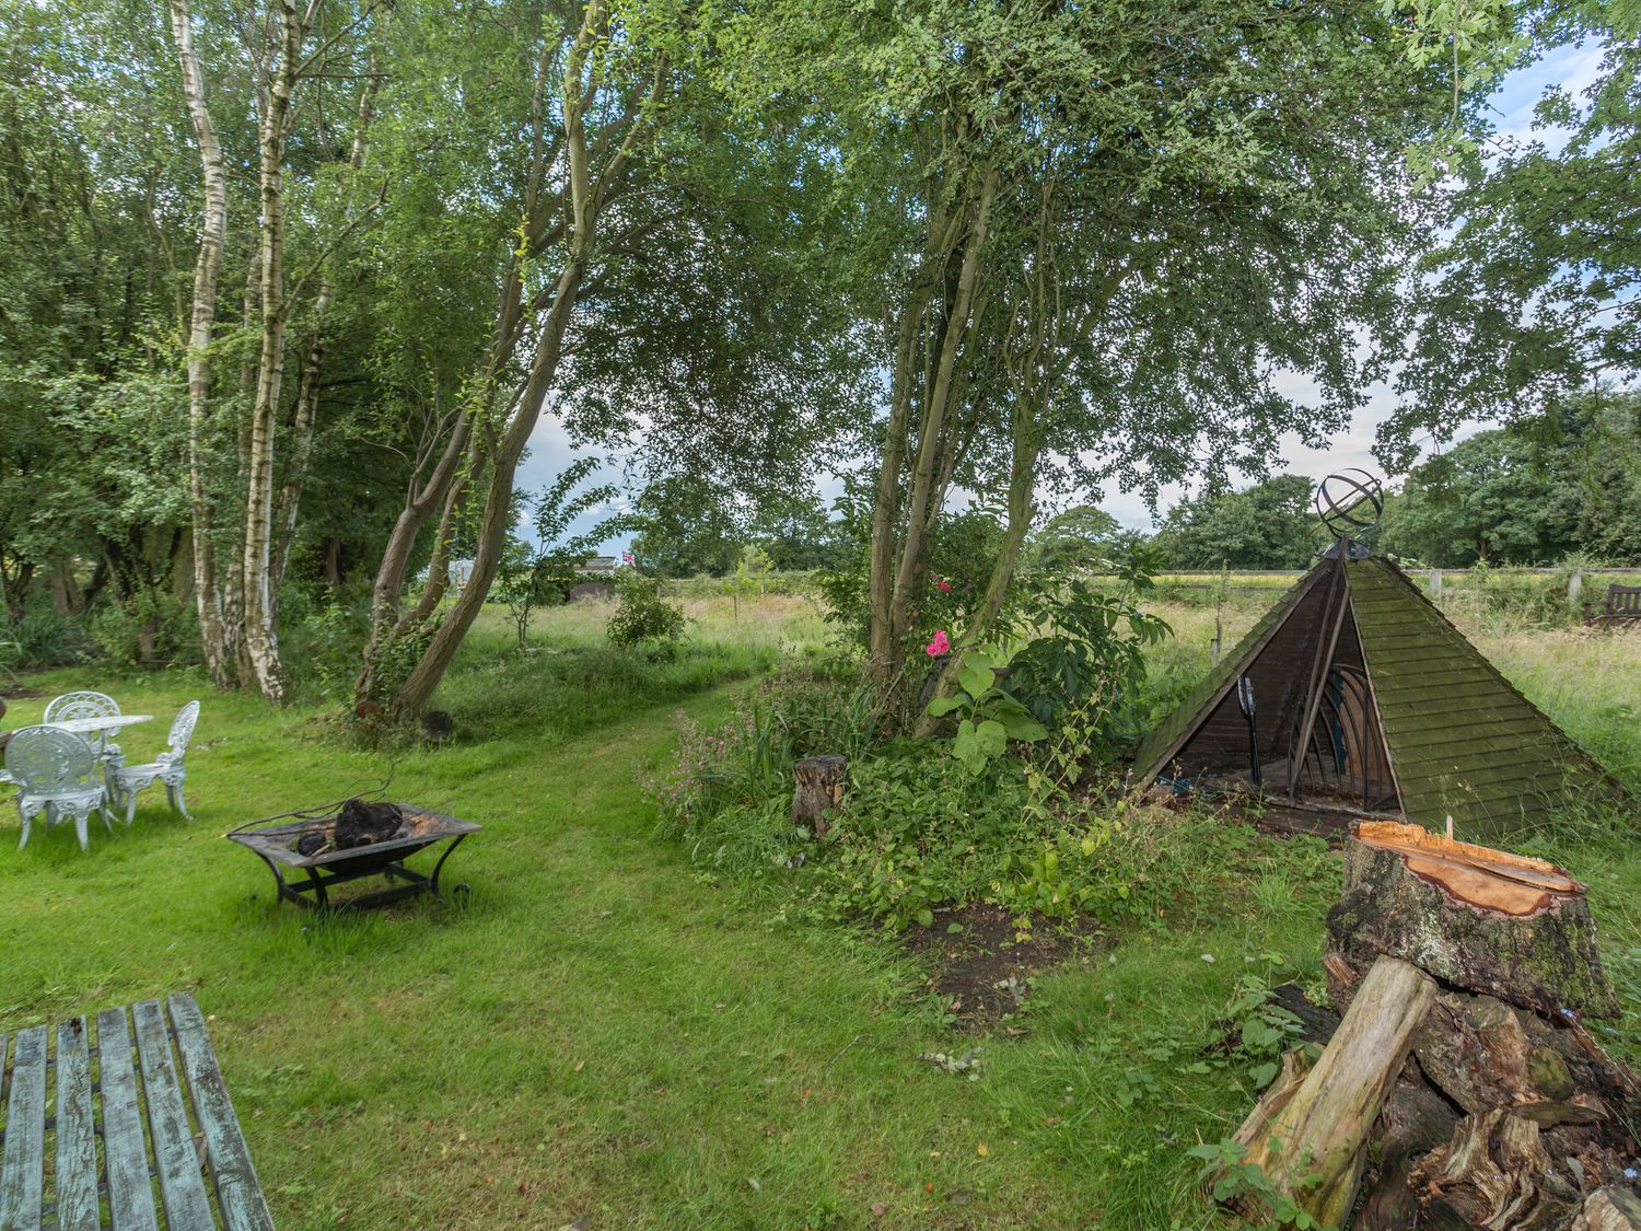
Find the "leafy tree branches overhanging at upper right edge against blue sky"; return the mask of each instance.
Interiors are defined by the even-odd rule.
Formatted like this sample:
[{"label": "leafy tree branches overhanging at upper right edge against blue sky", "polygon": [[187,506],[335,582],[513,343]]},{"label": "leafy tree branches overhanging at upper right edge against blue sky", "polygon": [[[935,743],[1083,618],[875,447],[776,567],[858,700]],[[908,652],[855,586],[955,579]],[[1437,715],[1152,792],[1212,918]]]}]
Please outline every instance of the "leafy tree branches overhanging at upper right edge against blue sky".
[{"label": "leafy tree branches overhanging at upper right edge against blue sky", "polygon": [[1641,7],[1531,8],[1524,57],[1600,46],[1580,94],[1551,87],[1528,140],[1493,138],[1444,181],[1451,238],[1415,281],[1403,404],[1378,433],[1395,468],[1424,433],[1554,410],[1641,373]]}]

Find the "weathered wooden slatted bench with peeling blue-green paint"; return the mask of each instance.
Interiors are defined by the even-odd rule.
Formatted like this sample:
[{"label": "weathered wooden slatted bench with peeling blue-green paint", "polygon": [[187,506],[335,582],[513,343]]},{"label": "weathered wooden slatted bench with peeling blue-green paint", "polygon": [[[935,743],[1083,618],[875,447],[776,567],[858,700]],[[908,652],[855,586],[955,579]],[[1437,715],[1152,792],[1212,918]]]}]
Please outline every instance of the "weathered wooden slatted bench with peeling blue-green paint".
[{"label": "weathered wooden slatted bench with peeling blue-green paint", "polygon": [[10,1050],[0,1034],[0,1231],[158,1231],[156,1211],[171,1231],[272,1231],[194,996],[95,1026],[57,1023],[54,1049],[46,1026]]}]

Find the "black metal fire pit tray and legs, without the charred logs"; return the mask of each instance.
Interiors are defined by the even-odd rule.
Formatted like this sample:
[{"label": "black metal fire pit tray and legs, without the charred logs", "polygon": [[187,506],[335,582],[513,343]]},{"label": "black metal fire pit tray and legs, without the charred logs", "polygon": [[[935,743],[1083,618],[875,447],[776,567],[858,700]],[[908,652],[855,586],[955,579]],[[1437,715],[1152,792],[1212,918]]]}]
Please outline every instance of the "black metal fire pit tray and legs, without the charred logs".
[{"label": "black metal fire pit tray and legs, without the charred logs", "polygon": [[[338,903],[336,909],[386,906],[402,898],[414,898],[418,893],[432,893],[437,898],[440,896],[438,873],[443,870],[445,860],[461,845],[461,839],[468,834],[476,834],[479,826],[458,821],[453,816],[443,816],[441,812],[430,812],[415,804],[394,804],[394,808],[404,816],[404,824],[399,827],[395,837],[346,850],[320,850],[313,855],[304,855],[297,850],[297,842],[307,834],[322,834],[327,839],[331,835],[336,824],[335,808],[327,809],[327,816],[289,812],[287,816],[299,816],[302,819],[282,826],[272,826],[267,821],[253,821],[230,831],[225,837],[261,855],[267,870],[274,873],[274,885],[279,890],[279,896],[286,901],[294,901],[297,906],[328,909],[328,890],[350,880],[359,880],[361,876],[387,876],[402,883],[350,898]],[[279,821],[281,817],[271,819]],[[432,876],[404,865],[405,858],[438,842],[450,842],[450,845],[445,847],[445,852],[438,857],[438,863],[433,865]],[[305,872],[307,880],[287,881],[286,868]],[[468,885],[456,886],[456,893],[461,896],[466,896],[468,891]]]}]

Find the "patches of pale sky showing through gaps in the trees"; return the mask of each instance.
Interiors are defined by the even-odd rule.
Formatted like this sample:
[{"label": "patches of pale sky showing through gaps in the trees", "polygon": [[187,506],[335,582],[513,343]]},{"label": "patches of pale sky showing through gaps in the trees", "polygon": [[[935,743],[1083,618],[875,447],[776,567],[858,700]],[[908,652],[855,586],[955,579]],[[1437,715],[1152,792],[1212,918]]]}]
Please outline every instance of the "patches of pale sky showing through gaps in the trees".
[{"label": "patches of pale sky showing through gaps in the trees", "polygon": [[[1500,136],[1524,138],[1531,131],[1533,108],[1543,97],[1546,87],[1562,85],[1572,94],[1579,94],[1593,80],[1600,64],[1600,49],[1593,46],[1567,48],[1544,57],[1538,64],[1510,74],[1503,87],[1493,98],[1495,123]],[[1538,135],[1547,140],[1552,135]],[[1554,141],[1552,141],[1554,143]],[[865,356],[863,356],[865,358]],[[1300,392],[1300,391],[1295,391]],[[1357,412],[1355,420],[1342,433],[1336,435],[1328,448],[1306,448],[1296,437],[1282,442],[1282,463],[1278,469],[1321,479],[1332,471],[1347,466],[1380,473],[1372,455],[1374,432],[1388,415],[1395,404],[1395,394],[1387,386],[1374,386],[1367,391],[1367,404]],[[1477,425],[1460,432],[1467,435]],[[1426,442],[1429,448],[1429,442]],[[535,435],[530,438],[530,456],[519,468],[520,491],[537,492],[546,487],[553,478],[576,456],[569,446],[569,438],[550,414],[542,417]],[[609,466],[609,478],[619,479],[619,464]],[[817,474],[816,487],[827,497],[835,494],[837,483],[830,474]],[[1163,487],[1160,507],[1177,501],[1183,492],[1178,487]],[[1150,529],[1152,514],[1145,499],[1139,492],[1109,491],[1099,502],[1124,525]],[[589,519],[591,520],[591,519]],[[581,529],[581,527],[576,527]],[[627,537],[612,538],[604,545],[604,551],[617,553],[627,545]]]}]

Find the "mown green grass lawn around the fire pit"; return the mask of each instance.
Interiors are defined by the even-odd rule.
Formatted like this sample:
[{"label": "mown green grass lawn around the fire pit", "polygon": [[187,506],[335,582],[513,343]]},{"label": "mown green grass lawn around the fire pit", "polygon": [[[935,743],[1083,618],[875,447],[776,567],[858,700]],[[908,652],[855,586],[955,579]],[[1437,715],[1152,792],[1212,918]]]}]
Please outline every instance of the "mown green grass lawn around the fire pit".
[{"label": "mown green grass lawn around the fire pit", "polygon": [[[545,614],[522,658],[489,622],[437,702],[458,727],[440,748],[363,750],[318,704],[272,712],[184,673],[20,681],[39,696],[8,724],[71,686],[159,716],[128,760],[184,701],[205,709],[194,824],[162,793],[112,837],[94,822],[89,853],[39,827],[15,850],[0,822],[0,1031],[195,990],[282,1228],[1209,1224],[1185,1151],[1254,1090],[1191,1060],[1244,973],[1314,968],[1332,873],[1249,832],[1247,893],[1182,901],[955,1036],[893,939],[788,918],[779,886],[709,880],[651,837],[637,778],[673,712],[720,719],[737,680],[822,635],[802,601],[696,616],[655,668],[615,663],[586,611]],[[320,921],[220,837],[389,775],[392,798],[484,826],[446,865],[464,909]],[[1608,952],[1638,944],[1636,862],[1556,853]],[[970,1047],[978,1080],[919,1060]]]}]

